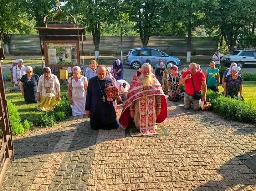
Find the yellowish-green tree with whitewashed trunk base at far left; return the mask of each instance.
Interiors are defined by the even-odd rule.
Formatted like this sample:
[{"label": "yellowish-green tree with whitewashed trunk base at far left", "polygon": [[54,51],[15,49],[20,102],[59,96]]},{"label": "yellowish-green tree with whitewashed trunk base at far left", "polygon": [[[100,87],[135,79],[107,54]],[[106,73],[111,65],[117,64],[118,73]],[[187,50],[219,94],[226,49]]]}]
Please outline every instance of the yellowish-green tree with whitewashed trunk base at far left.
[{"label": "yellowish-green tree with whitewashed trunk base at far left", "polygon": [[1,6],[4,7],[4,9],[0,9],[0,39],[3,40],[5,52],[8,54],[8,34],[30,33],[36,22],[33,18],[29,19],[28,14],[22,9],[18,0],[2,0]]}]

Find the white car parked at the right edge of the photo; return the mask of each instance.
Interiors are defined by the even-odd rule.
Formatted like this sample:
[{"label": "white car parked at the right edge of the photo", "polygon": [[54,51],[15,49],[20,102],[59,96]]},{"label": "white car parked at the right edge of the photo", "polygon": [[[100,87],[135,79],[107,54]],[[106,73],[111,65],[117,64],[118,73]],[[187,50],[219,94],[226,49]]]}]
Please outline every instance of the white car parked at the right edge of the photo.
[{"label": "white car parked at the right edge of the photo", "polygon": [[224,55],[223,63],[230,66],[232,62],[236,62],[238,67],[244,65],[256,64],[256,50],[236,50]]}]

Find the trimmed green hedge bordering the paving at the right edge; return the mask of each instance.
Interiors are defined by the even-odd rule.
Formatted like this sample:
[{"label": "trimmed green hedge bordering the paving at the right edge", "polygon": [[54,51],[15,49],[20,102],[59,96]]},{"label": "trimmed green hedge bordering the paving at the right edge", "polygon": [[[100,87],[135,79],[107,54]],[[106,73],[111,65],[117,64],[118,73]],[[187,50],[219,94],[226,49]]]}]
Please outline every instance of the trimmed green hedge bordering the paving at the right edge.
[{"label": "trimmed green hedge bordering the paving at the right edge", "polygon": [[211,90],[207,91],[207,100],[211,102],[214,112],[226,119],[256,124],[256,108],[244,101]]}]

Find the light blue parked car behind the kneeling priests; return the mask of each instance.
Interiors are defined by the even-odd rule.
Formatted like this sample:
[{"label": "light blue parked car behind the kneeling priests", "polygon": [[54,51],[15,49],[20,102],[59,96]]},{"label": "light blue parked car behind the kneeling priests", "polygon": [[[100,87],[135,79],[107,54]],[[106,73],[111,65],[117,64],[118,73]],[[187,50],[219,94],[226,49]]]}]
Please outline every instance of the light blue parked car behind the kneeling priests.
[{"label": "light blue parked car behind the kneeling priests", "polygon": [[174,56],[169,56],[166,53],[154,49],[154,48],[135,48],[130,49],[126,55],[125,64],[131,66],[133,69],[139,69],[146,60],[150,61],[150,64],[155,67],[159,59],[163,60],[163,63],[167,64],[172,63],[173,65],[180,65],[179,58]]}]

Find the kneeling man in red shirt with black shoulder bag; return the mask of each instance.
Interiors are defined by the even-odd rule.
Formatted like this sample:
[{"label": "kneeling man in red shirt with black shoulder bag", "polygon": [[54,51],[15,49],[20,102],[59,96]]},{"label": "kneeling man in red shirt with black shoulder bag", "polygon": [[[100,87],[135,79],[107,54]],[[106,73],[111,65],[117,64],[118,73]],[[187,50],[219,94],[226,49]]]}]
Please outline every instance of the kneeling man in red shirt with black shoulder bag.
[{"label": "kneeling man in red shirt with black shoulder bag", "polygon": [[[195,89],[193,87],[193,83]],[[185,93],[184,93],[184,107],[185,109],[190,109],[191,103],[193,104],[194,110],[200,109],[201,100],[195,100],[193,95],[195,91],[200,92],[202,90],[202,100],[206,100],[206,79],[203,72],[197,70],[196,63],[191,63],[189,65],[189,70],[182,74],[182,79],[179,80],[179,84],[185,83]]]}]

